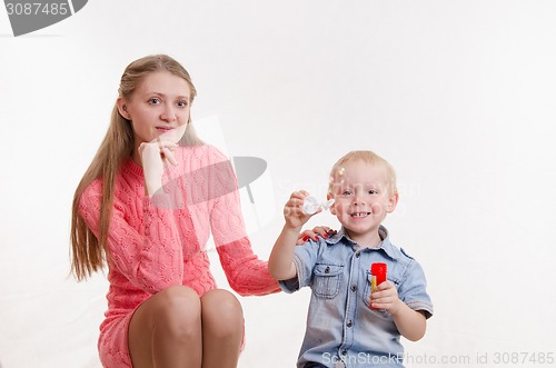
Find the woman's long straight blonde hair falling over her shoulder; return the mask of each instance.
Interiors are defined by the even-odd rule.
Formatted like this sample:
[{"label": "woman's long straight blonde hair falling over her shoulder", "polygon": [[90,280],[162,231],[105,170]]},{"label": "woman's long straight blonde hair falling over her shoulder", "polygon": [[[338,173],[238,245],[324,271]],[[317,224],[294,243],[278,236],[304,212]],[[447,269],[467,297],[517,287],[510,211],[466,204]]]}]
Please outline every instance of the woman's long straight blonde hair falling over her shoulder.
[{"label": "woman's long straight blonde hair falling over her shoulder", "polygon": [[[183,78],[189,84],[190,103],[192,103],[197,90],[189,73],[179,62],[166,54],[148,56],[131,62],[121,76],[120,88],[118,89],[119,97],[129,100],[145,78],[156,71],[169,71],[177,77]],[[133,143],[133,130],[130,120],[123,118],[118,111],[117,105],[115,105],[105,139],[73,195],[71,209],[71,271],[78,280],[87,279],[93,272],[102,269],[105,258],[109,258],[107,241],[113,207],[115,178],[123,160],[132,155]],[[179,143],[180,146],[202,145],[191,125],[191,117],[189,117],[186,133]],[[85,189],[99,178],[102,179],[102,201],[99,237],[97,238],[79,213],[79,202]]]}]

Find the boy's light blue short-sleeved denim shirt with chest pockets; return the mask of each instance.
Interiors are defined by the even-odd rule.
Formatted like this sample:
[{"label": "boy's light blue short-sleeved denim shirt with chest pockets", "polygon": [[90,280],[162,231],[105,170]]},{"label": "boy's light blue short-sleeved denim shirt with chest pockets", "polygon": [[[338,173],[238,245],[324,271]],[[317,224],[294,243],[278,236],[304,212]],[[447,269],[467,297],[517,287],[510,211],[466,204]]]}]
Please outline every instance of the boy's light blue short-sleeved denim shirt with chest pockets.
[{"label": "boy's light blue short-sleeved denim shirt with chest pockets", "polygon": [[280,281],[286,292],[309,286],[312,290],[307,330],[298,367],[319,362],[326,367],[404,367],[404,347],[390,314],[374,310],[370,300],[370,265],[387,263],[387,278],[401,301],[426,318],[433,305],[419,263],[379,229],[378,248],[364,248],[345,229],[329,239],[319,238],[296,247],[297,278]]}]

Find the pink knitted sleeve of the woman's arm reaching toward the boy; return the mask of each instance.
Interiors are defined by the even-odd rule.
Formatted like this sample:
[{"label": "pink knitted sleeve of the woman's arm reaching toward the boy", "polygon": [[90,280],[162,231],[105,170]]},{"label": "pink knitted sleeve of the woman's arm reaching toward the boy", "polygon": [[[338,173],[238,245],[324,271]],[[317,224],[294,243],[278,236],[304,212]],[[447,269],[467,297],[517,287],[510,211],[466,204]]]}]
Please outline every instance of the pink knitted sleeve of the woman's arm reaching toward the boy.
[{"label": "pink knitted sleeve of the woman's arm reaching toward the boy", "polygon": [[[216,149],[212,155],[215,160],[225,159]],[[212,166],[217,172],[210,175],[212,187],[235,189],[215,198],[210,212],[212,236],[226,277],[230,287],[242,296],[278,292],[280,288],[268,272],[268,263],[252,252],[241,215],[237,178],[227,162]]]}]

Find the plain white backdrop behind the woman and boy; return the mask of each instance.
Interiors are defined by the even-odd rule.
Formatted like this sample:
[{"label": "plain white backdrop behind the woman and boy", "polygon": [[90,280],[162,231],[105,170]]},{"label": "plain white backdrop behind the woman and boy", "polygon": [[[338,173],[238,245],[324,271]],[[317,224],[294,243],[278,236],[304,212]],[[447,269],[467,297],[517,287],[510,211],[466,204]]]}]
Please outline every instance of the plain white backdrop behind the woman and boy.
[{"label": "plain white backdrop behind the woman and boy", "polygon": [[[14,38],[0,9],[0,365],[100,367],[107,284],[68,277],[71,197],[123,68],[163,52],[193,78],[201,136],[268,162],[255,208],[244,200],[261,258],[292,190],[324,195],[338,157],[375,150],[401,188],[386,226],[435,304],[407,366],[548,366],[555,19],[554,1],[91,0]],[[292,367],[308,298],[240,298],[239,366]]]}]

